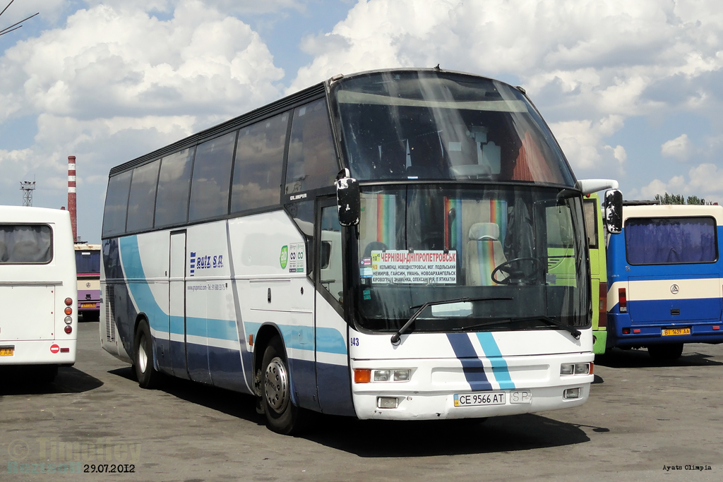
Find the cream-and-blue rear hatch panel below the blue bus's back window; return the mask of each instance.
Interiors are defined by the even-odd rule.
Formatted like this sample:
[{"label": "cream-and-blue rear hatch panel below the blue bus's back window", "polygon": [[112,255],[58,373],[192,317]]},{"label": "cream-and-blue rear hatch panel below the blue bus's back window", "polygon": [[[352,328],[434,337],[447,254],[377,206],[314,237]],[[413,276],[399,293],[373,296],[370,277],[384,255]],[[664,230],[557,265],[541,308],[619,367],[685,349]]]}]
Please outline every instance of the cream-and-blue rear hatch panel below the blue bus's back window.
[{"label": "cream-and-blue rear hatch panel below the blue bus's back window", "polygon": [[718,277],[651,279],[631,276],[628,287],[628,312],[632,322],[675,323],[721,317]]}]

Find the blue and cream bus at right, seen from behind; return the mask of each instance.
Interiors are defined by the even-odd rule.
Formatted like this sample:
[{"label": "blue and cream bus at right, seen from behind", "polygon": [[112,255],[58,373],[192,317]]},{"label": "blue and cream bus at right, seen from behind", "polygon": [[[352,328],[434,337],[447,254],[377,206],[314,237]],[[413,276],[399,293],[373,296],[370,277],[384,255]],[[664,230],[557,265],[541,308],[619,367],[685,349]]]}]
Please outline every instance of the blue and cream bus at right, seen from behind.
[{"label": "blue and cream bus at right, seen from behind", "polygon": [[607,248],[607,346],[675,360],[723,343],[723,206],[626,205]]}]

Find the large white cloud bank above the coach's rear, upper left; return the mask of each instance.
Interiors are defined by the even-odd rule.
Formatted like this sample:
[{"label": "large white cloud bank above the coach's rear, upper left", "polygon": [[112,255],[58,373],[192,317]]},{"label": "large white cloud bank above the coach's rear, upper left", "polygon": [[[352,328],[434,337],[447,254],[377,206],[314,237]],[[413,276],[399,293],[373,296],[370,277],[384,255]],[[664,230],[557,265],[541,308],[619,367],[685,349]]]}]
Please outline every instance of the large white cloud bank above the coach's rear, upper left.
[{"label": "large white cloud bank above the coach's rear, upper left", "polygon": [[[38,116],[33,145],[0,146],[1,202],[19,204],[17,181],[35,176],[35,205],[64,205],[75,155],[79,213],[89,220],[81,233],[96,241],[112,166],[275,100],[283,77],[260,36],[208,2],[108,3],[77,10],[0,58],[0,123]],[[170,14],[155,17],[149,6]]]}]

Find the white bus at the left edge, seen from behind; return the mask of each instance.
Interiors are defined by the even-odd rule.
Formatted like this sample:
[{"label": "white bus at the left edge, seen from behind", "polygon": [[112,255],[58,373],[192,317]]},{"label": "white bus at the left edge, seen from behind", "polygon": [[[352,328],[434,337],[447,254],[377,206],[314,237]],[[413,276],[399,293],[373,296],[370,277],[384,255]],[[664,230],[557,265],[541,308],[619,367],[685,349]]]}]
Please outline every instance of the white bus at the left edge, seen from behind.
[{"label": "white bus at the left edge, seen from behind", "polygon": [[77,285],[70,215],[0,207],[0,366],[51,382],[75,363]]}]

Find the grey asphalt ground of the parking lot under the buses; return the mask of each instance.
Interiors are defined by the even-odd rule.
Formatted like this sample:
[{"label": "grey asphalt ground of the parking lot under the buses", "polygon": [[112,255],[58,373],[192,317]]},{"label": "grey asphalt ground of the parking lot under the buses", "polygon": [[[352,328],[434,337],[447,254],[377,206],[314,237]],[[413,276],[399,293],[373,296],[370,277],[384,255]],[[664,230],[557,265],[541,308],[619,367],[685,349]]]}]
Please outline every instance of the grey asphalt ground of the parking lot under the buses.
[{"label": "grey asphalt ground of the parking lot under the buses", "polygon": [[613,350],[579,408],[485,423],[320,417],[281,436],[247,395],[177,379],[142,390],[100,348],[98,322],[79,327],[77,363],[53,384],[0,374],[0,481],[723,480],[723,345],[685,345],[669,365]]}]

